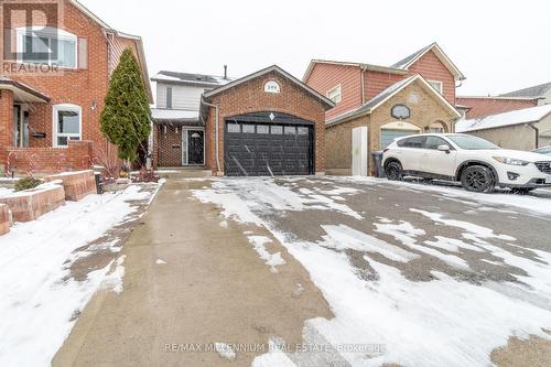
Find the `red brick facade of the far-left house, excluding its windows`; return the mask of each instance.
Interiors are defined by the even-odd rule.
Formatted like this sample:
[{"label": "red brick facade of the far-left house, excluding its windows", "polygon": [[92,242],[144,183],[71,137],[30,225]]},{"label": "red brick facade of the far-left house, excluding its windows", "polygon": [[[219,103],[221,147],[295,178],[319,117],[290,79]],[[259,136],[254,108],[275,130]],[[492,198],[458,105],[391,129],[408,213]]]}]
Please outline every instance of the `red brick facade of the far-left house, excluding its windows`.
[{"label": "red brick facade of the far-left house, excluding its windows", "polygon": [[[25,1],[22,0],[22,3]],[[118,64],[119,56],[126,46],[137,54],[136,42],[112,36],[106,39],[102,29],[91,19],[77,10],[69,1],[60,0],[60,29],[87,40],[88,63],[86,68],[62,69],[51,73],[3,73],[9,77],[40,90],[51,98],[50,104],[30,104],[30,130],[45,132],[46,138],[30,138],[31,148],[53,147],[53,105],[72,104],[82,107],[82,139],[94,142],[94,148],[110,159],[116,158],[116,149],[109,147],[99,126],[99,117],[104,109],[110,72]],[[13,24],[13,23],[12,23]],[[25,25],[24,20],[15,20],[15,25]],[[52,24],[55,25],[55,24]],[[3,32],[0,30],[0,33]],[[0,34],[3,36],[3,34]],[[111,45],[110,50],[108,43]],[[0,50],[1,52],[1,50]],[[3,54],[1,54],[2,63]],[[148,80],[149,83],[149,80]]]}]

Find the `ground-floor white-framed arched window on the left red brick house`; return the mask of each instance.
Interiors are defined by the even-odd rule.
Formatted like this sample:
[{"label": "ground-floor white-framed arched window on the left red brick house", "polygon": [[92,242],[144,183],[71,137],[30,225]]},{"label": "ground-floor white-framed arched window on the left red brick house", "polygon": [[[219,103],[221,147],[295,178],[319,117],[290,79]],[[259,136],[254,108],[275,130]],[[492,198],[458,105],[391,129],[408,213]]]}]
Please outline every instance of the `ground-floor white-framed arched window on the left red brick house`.
[{"label": "ground-floor white-framed arched window on the left red brick house", "polygon": [[80,140],[83,109],[76,105],[54,106],[54,147],[67,147],[69,140]]}]

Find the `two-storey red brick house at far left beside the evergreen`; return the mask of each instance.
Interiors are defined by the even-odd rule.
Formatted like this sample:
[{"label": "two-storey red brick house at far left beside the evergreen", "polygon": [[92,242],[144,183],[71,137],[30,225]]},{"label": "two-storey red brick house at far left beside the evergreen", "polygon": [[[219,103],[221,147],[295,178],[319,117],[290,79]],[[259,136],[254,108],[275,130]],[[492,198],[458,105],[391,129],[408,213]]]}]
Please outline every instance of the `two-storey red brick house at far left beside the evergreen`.
[{"label": "two-storey red brick house at far left beside the evergreen", "polygon": [[[45,15],[33,20],[29,14],[36,6]],[[126,47],[137,56],[153,101],[141,39],[114,30],[76,0],[10,1],[0,7],[9,21],[1,37],[11,40],[7,45],[12,48],[0,45],[2,165],[25,174],[116,160],[99,117],[109,77]],[[45,57],[37,56],[41,48]],[[17,58],[11,55],[14,50]]]}]

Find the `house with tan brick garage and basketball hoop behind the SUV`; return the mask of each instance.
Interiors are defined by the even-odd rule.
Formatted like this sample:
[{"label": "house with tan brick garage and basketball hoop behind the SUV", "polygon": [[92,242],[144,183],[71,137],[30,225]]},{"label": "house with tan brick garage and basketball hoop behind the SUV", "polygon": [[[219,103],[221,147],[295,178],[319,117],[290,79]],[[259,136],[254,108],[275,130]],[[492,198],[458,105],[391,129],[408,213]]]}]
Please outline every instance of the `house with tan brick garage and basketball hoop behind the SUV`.
[{"label": "house with tan brick garage and basketball hoop behind the SUV", "polygon": [[325,116],[326,172],[374,173],[371,153],[393,139],[425,131],[453,132],[461,117],[455,87],[463,79],[436,43],[391,66],[312,61],[304,83],[336,104]]}]

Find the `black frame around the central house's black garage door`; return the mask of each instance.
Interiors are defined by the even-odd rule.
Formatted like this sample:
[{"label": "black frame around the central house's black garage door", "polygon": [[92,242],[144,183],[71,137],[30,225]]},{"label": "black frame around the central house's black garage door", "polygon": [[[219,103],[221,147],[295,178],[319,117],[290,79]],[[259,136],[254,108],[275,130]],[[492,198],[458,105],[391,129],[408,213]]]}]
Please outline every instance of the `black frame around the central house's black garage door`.
[{"label": "black frame around the central house's black garage door", "polygon": [[[228,147],[228,123],[251,123],[251,125],[267,125],[267,126],[294,126],[309,128],[309,168],[307,175],[315,174],[315,123],[300,117],[273,111],[258,111],[245,115],[226,117],[224,119],[224,172],[228,174],[227,170],[227,147]],[[242,133],[242,132],[241,132]]]}]

